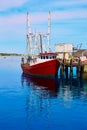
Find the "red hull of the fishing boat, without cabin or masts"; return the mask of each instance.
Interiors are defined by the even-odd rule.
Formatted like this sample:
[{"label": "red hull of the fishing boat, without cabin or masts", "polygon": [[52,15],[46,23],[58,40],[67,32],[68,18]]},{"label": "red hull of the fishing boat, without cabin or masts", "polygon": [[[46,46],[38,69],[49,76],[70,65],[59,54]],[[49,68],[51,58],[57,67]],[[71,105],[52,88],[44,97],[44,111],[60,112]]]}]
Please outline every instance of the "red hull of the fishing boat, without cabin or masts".
[{"label": "red hull of the fishing boat, without cabin or masts", "polygon": [[21,64],[21,68],[24,73],[34,76],[56,76],[59,66],[60,63],[56,59],[32,66],[29,66],[28,64]]}]

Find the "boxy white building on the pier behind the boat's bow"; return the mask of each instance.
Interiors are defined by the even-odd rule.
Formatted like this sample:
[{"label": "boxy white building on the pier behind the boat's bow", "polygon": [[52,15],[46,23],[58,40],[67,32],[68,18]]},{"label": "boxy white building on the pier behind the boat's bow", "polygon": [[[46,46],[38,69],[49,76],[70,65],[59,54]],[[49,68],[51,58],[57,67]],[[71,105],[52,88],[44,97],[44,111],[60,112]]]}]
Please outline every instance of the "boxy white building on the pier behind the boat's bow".
[{"label": "boxy white building on the pier behind the boat's bow", "polygon": [[55,44],[55,52],[58,52],[58,58],[68,59],[72,56],[73,46],[71,43]]}]

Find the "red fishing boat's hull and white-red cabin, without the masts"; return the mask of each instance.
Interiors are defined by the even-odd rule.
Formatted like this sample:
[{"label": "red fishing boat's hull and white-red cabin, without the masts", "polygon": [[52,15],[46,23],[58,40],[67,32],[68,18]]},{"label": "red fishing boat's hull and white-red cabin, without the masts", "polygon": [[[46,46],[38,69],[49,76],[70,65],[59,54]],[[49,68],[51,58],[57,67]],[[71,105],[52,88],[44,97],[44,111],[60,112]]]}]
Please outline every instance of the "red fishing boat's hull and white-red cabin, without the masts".
[{"label": "red fishing boat's hull and white-red cabin, without the masts", "polygon": [[22,63],[21,68],[24,73],[33,76],[57,76],[60,66],[56,59],[56,53],[40,53],[37,58],[28,59],[27,63]]}]

